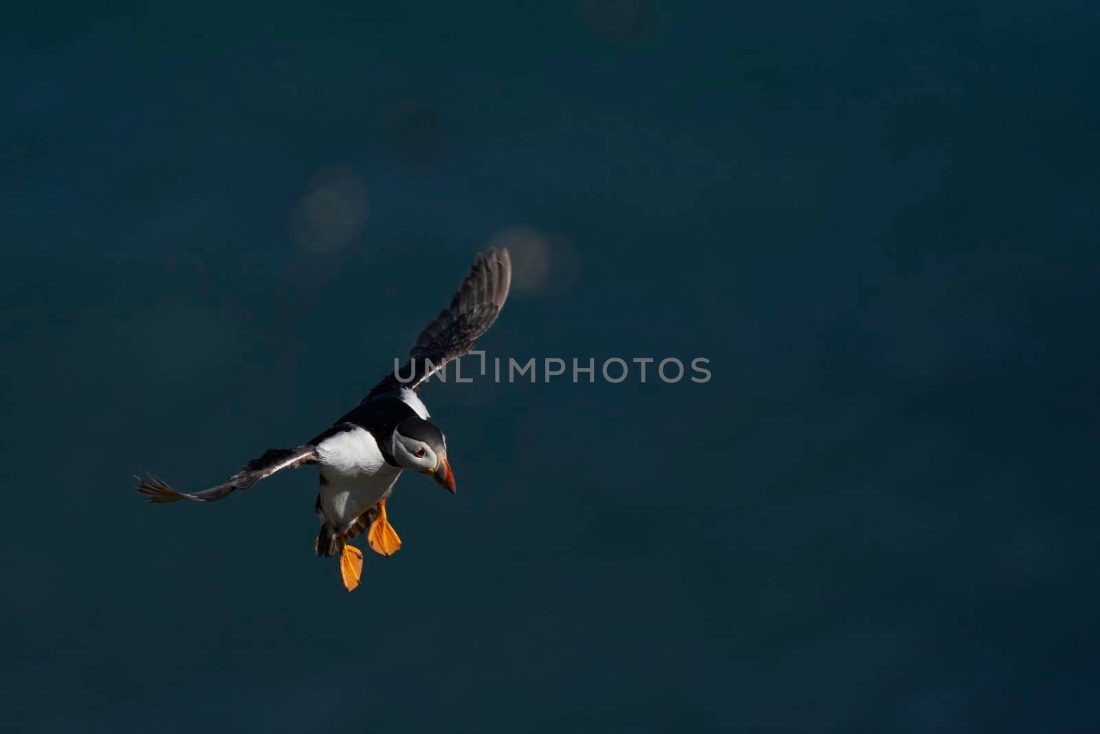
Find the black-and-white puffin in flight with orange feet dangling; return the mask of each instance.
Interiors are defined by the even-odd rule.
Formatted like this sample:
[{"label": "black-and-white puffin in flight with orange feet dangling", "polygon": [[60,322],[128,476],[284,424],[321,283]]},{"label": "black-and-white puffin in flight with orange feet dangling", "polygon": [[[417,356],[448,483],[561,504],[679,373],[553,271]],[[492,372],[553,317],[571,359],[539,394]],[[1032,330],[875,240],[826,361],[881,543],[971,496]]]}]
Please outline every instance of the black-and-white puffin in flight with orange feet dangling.
[{"label": "black-and-white puffin in flight with orange feet dangling", "polygon": [[408,363],[387,374],[354,409],[308,443],[267,449],[223,484],[201,492],[178,492],[152,474],[136,478],[138,491],[155,504],[217,502],[282,469],[312,464],[320,480],[316,510],[321,521],[315,550],[326,558],[340,551],[340,576],[352,591],[363,570],[363,554],[351,545],[356,535],[366,529],[367,545],[383,556],[402,547],[386,516],[386,500],[403,470],[428,474],[454,493],[447,437],[429,420],[418,393],[428,377],[469,352],[488,330],[510,283],[507,250],[479,253],[451,305],[428,322],[409,350]]}]

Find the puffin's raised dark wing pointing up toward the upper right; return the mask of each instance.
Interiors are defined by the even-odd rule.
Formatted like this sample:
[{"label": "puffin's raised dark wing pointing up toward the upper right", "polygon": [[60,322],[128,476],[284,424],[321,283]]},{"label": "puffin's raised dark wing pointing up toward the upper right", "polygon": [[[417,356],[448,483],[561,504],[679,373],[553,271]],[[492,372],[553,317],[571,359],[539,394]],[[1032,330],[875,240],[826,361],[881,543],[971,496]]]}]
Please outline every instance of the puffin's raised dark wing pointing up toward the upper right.
[{"label": "puffin's raised dark wing pointing up toward the upper right", "polygon": [[485,255],[479,252],[470,275],[451,298],[451,305],[428,322],[416,346],[409,350],[408,364],[397,373],[400,380],[387,374],[363,402],[398,387],[419,390],[444,364],[473,349],[504,308],[509,285],[512,259],[508,251],[493,249]]}]

